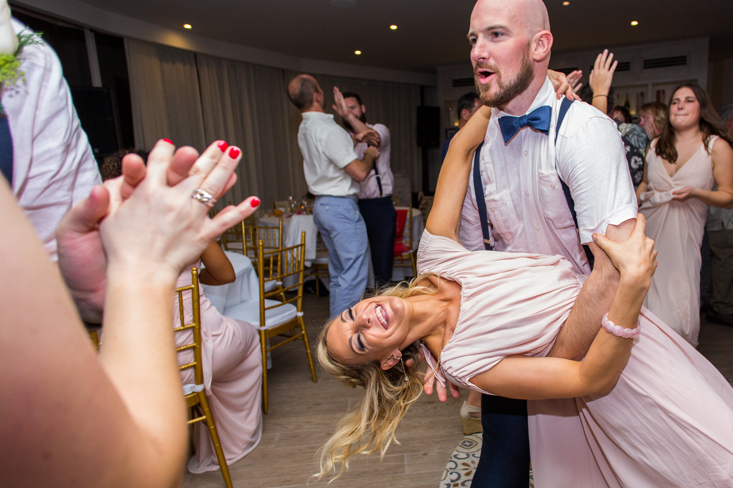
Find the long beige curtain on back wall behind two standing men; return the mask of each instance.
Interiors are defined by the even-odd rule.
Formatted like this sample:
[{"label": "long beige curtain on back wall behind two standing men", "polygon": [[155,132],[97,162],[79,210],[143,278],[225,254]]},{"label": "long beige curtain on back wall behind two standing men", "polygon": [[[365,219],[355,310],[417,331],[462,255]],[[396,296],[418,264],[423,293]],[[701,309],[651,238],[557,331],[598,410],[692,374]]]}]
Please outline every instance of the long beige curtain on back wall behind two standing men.
[{"label": "long beige curtain on back wall behind two standing men", "polygon": [[[286,92],[287,83],[298,73],[127,38],[125,52],[136,147],[151,149],[160,138],[199,151],[217,139],[240,147],[243,158],[236,171],[237,183],[219,200],[218,208],[257,195],[269,212],[270,198],[300,198],[308,191],[298,148],[301,114]],[[325,75],[316,78],[330,113],[334,113],[334,85],[361,96],[368,121],[390,129],[393,171],[408,174],[413,188],[419,188],[415,130],[420,87]]]}]

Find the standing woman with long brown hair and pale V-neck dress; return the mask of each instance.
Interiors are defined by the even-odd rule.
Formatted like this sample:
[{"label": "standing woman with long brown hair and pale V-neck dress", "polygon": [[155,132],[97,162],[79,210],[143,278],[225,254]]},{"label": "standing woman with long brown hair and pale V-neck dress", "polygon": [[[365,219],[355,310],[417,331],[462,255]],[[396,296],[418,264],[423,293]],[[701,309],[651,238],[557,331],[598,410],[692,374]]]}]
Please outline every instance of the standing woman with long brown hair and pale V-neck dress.
[{"label": "standing woman with long brown hair and pale V-neck dress", "polygon": [[693,83],[679,86],[662,133],[649,145],[644,178],[636,190],[647,235],[660,254],[644,306],[695,347],[707,207],[733,208],[729,142],[704,90]]}]

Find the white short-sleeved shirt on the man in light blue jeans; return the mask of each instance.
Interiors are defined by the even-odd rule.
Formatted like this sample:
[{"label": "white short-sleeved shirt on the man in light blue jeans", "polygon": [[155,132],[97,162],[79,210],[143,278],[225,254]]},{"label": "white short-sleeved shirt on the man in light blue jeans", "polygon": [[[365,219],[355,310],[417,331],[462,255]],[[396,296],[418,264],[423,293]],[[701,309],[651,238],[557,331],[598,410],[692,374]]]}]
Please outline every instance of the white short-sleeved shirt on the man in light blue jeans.
[{"label": "white short-sleeved shirt on the man in light blue jeans", "polygon": [[334,116],[323,112],[303,113],[298,129],[298,146],[303,153],[303,171],[314,195],[356,195],[359,183],[343,170],[358,159],[354,143]]}]

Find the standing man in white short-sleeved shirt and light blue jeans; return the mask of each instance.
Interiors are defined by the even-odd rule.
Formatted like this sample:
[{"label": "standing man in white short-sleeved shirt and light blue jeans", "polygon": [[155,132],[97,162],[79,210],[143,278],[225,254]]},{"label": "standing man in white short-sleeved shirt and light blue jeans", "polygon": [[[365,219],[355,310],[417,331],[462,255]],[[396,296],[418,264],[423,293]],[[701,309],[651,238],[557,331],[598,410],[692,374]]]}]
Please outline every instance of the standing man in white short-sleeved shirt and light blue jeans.
[{"label": "standing man in white short-sleeved shirt and light blue jeans", "polygon": [[331,317],[358,303],[367,288],[367,226],[356,204],[359,182],[379,157],[375,147],[359,159],[346,130],[325,113],[325,96],[315,78],[298,75],[287,86],[301,111],[298,146],[308,189],[316,197],[313,220],[328,248]]}]

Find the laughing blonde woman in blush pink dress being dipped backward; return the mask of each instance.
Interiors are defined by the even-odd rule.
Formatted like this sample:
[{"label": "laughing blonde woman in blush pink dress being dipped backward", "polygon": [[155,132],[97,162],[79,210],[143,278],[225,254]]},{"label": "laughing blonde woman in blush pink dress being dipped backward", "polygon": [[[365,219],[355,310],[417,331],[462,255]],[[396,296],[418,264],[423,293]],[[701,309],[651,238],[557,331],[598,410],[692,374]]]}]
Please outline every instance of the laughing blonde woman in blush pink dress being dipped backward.
[{"label": "laughing blonde woman in blush pink dress being dipped backward", "polygon": [[[422,391],[421,358],[434,357],[438,376],[457,385],[531,400],[538,488],[733,486],[733,388],[642,307],[656,267],[643,216],[625,243],[594,235],[620,273],[603,327],[583,321],[592,304],[581,306],[583,278],[563,257],[460,244],[489,117],[481,108],[452,141],[418,251],[421,275],[345,310],[320,336],[323,368],[364,387],[323,447],[320,476],[356,452],[386,450]],[[547,357],[561,328],[593,334],[583,361]]]}]

